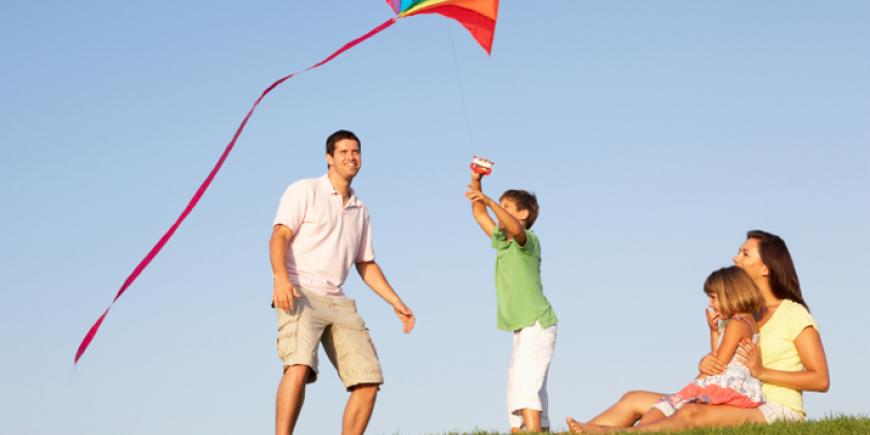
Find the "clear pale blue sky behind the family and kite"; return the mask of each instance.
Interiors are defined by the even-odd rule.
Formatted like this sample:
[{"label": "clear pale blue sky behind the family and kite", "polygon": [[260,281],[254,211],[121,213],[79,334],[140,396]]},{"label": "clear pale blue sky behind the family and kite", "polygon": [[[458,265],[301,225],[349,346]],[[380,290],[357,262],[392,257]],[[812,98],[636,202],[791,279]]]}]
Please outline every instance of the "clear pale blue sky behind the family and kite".
[{"label": "clear pale blue sky behind the family and kite", "polygon": [[[496,162],[490,194],[541,203],[554,427],[687,382],[708,346],[701,284],[755,228],[788,242],[821,327],[832,386],[805,395],[810,417],[870,411],[861,1],[505,1],[491,57],[441,17],[400,21],[264,101],[73,368],[263,88],[387,19],[383,3],[0,5],[5,431],[271,431],[271,220],[338,128],[362,138],[355,187],[418,319],[404,336],[348,280],[386,376],[370,433],[507,427],[494,253],[462,197],[472,153]],[[298,433],[337,432],[345,399],[324,366]]]}]

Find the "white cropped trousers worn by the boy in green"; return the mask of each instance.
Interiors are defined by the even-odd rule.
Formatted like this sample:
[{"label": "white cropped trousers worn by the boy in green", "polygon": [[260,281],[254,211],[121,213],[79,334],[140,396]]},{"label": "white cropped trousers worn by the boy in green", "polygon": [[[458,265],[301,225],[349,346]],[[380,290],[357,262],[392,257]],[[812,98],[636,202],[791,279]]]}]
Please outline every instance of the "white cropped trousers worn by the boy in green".
[{"label": "white cropped trousers worn by the boy in green", "polygon": [[523,429],[523,409],[541,411],[541,426],[549,427],[547,372],[556,348],[556,325],[542,328],[540,322],[514,332],[511,367],[508,371],[508,421]]}]

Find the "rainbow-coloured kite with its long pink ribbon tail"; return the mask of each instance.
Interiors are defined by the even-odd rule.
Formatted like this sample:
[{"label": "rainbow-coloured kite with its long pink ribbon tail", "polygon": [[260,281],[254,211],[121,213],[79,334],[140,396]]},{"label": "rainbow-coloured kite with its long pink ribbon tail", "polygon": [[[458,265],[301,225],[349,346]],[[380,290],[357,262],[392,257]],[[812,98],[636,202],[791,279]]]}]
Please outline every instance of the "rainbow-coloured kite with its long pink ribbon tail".
[{"label": "rainbow-coloured kite with its long pink ribbon tail", "polygon": [[130,275],[127,276],[127,279],[124,280],[121,288],[118,289],[118,292],[115,294],[115,298],[112,299],[112,303],[109,304],[106,310],[103,311],[103,314],[100,315],[97,321],[94,322],[94,325],[91,326],[91,329],[88,330],[88,333],[85,335],[85,338],[82,340],[81,344],[79,344],[79,348],[76,351],[76,356],[73,362],[74,364],[77,364],[79,362],[79,359],[88,349],[88,346],[91,344],[91,341],[93,341],[94,336],[97,334],[97,331],[103,324],[103,320],[105,320],[106,315],[109,314],[109,310],[112,308],[112,305],[114,305],[115,302],[117,302],[118,299],[121,297],[121,295],[123,295],[124,292],[127,291],[130,285],[133,284],[136,278],[139,277],[139,274],[141,274],[142,271],[145,270],[146,267],[148,267],[148,264],[151,263],[151,260],[153,260],[154,257],[156,257],[157,254],[160,252],[160,250],[163,249],[163,246],[166,245],[166,242],[168,242],[170,238],[172,238],[172,235],[175,234],[175,231],[178,230],[178,227],[187,218],[187,215],[189,215],[190,212],[193,211],[194,207],[196,207],[196,204],[202,198],[202,195],[205,194],[205,191],[208,190],[209,185],[211,185],[211,182],[212,180],[214,180],[214,177],[217,175],[218,171],[220,171],[221,166],[223,166],[224,162],[230,154],[230,151],[232,151],[233,147],[236,145],[236,141],[239,139],[239,136],[245,129],[245,125],[248,123],[248,120],[254,113],[254,109],[256,109],[257,106],[260,105],[260,102],[263,101],[263,98],[265,98],[266,95],[272,92],[273,89],[278,87],[278,85],[284,83],[285,81],[297,74],[312,70],[331,61],[332,59],[335,59],[340,54],[353,48],[357,44],[371,38],[377,33],[380,33],[387,27],[392,26],[396,23],[398,19],[419,14],[439,14],[458,21],[466,29],[468,29],[469,32],[471,32],[471,35],[474,37],[474,39],[477,40],[477,42],[481,45],[481,47],[483,47],[484,50],[486,50],[487,53],[490,53],[492,51],[492,39],[493,35],[495,34],[495,22],[498,16],[498,0],[387,0],[387,4],[389,4],[390,7],[393,8],[393,11],[395,11],[395,17],[384,21],[365,35],[348,42],[320,62],[302,71],[288,74],[276,80],[260,94],[259,98],[254,101],[251,109],[248,110],[248,114],[245,115],[244,119],[242,119],[242,123],[239,125],[239,128],[236,129],[236,133],[233,135],[232,140],[230,140],[230,143],[224,149],[217,163],[214,165],[211,172],[209,172],[208,177],[206,177],[202,184],[200,184],[199,188],[196,189],[196,192],[193,194],[193,198],[188,201],[187,206],[184,207],[184,210],[175,220],[175,223],[173,223],[172,226],[169,227],[169,230],[167,230],[166,233],[163,234],[163,237],[161,237],[160,240],[157,241],[154,247],[152,247],[151,250],[148,251],[148,254],[146,254],[145,257],[139,262],[139,264],[136,265],[136,267],[133,269],[133,272],[131,272]]}]

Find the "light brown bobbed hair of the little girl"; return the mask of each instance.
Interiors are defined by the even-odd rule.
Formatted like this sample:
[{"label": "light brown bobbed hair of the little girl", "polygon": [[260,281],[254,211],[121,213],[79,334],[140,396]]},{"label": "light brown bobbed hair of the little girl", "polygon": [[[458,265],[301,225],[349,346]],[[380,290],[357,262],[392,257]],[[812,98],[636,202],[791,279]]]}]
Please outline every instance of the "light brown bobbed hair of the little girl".
[{"label": "light brown bobbed hair of the little girl", "polygon": [[737,313],[757,314],[764,306],[764,297],[752,278],[736,266],[711,273],[704,281],[704,293],[719,298],[719,311],[724,318]]}]

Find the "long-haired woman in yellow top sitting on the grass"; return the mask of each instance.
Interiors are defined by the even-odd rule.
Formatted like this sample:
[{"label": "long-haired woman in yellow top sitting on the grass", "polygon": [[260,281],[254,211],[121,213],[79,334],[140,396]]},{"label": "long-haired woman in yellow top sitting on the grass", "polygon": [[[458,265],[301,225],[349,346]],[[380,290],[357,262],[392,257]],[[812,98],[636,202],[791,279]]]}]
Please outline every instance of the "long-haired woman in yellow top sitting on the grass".
[{"label": "long-haired woman in yellow top sitting on the grass", "polygon": [[[738,356],[764,383],[766,403],[758,408],[687,404],[666,419],[634,426],[665,394],[631,391],[588,423],[569,417],[571,432],[676,430],[805,418],[802,392],[826,392],[830,378],[818,326],[804,302],[788,248],[776,235],[750,231],[733,261],[764,296],[759,345],[743,343]],[[715,354],[705,355],[698,365],[705,375],[722,373],[724,367]]]}]

